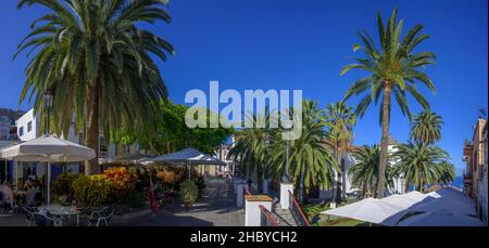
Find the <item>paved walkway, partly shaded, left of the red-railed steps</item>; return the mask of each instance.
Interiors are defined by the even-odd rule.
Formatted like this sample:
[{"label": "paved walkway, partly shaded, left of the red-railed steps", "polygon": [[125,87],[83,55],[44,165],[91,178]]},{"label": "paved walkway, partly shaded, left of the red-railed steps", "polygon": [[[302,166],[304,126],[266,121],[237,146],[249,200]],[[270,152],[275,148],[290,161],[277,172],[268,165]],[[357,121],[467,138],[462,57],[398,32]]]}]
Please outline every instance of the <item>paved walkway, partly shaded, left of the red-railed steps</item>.
[{"label": "paved walkway, partly shaded, left of the red-railed steps", "polygon": [[233,185],[225,181],[206,183],[202,198],[189,210],[179,204],[161,209],[156,216],[147,214],[114,225],[137,226],[242,226],[244,213],[236,208]]}]

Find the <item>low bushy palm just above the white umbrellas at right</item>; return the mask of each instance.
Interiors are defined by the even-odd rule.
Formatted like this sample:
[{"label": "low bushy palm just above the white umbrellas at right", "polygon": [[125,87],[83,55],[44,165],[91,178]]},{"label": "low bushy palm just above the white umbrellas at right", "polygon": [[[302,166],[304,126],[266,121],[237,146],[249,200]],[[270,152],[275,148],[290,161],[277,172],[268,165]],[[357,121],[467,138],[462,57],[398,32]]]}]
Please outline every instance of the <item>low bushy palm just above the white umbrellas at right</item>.
[{"label": "low bushy palm just above the white umbrellas at right", "polygon": [[[394,153],[398,164],[396,174],[404,174],[405,183],[423,191],[425,185],[447,183],[452,172],[449,154],[438,146],[423,142],[409,142],[398,146]],[[452,177],[453,179],[453,177]]]}]

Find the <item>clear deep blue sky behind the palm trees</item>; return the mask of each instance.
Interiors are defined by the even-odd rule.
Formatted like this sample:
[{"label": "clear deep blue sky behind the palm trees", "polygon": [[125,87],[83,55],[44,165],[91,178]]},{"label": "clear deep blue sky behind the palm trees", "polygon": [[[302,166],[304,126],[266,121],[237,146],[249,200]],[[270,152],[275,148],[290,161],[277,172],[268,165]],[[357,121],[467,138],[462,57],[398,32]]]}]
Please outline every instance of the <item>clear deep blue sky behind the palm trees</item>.
[{"label": "clear deep blue sky behind the palm trees", "polygon": [[[17,107],[26,60],[11,61],[30,22],[45,13],[35,6],[17,11],[16,1],[0,1],[0,107]],[[341,77],[340,68],[355,55],[355,34],[376,35],[375,14],[399,8],[405,27],[424,24],[431,38],[419,51],[437,54],[427,69],[437,87],[428,95],[435,112],[446,121],[440,145],[461,173],[462,144],[472,136],[479,107],[488,102],[488,2],[486,0],[173,0],[171,25],[151,27],[170,40],[176,55],[161,64],[171,97],[184,102],[190,89],[206,90],[210,80],[221,88],[300,89],[322,106],[343,97],[362,74]],[[358,101],[350,101],[355,104]],[[419,106],[412,102],[413,112]],[[21,105],[27,109],[28,103]],[[408,118],[392,109],[391,133],[399,141],[409,134]],[[378,108],[371,107],[355,128],[355,144],[380,140]]]}]

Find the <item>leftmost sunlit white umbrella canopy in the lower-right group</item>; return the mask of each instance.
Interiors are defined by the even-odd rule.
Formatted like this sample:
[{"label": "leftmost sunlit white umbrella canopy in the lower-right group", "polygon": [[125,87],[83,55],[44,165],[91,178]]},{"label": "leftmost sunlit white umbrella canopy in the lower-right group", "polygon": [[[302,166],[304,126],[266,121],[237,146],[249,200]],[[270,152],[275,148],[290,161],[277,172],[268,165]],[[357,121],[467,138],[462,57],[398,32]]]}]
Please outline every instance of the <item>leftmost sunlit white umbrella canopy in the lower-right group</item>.
[{"label": "leftmost sunlit white umbrella canopy in the lower-right group", "polygon": [[354,204],[350,204],[344,207],[339,207],[331,210],[326,210],[321,213],[379,224],[386,218],[401,210],[402,209],[400,207],[384,203],[379,199],[366,198]]}]

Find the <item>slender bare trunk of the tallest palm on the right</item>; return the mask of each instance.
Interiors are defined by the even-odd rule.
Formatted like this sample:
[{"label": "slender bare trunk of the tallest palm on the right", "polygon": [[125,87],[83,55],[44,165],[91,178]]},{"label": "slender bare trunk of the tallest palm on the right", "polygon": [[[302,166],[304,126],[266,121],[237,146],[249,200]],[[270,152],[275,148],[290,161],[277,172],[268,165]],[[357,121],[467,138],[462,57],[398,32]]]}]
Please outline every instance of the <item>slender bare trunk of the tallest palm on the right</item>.
[{"label": "slender bare trunk of the tallest palm on the right", "polygon": [[390,122],[390,82],[385,82],[383,102],[383,139],[380,143],[380,161],[378,166],[378,183],[376,198],[384,197],[384,187],[386,184],[387,148],[389,143],[389,122]]}]

